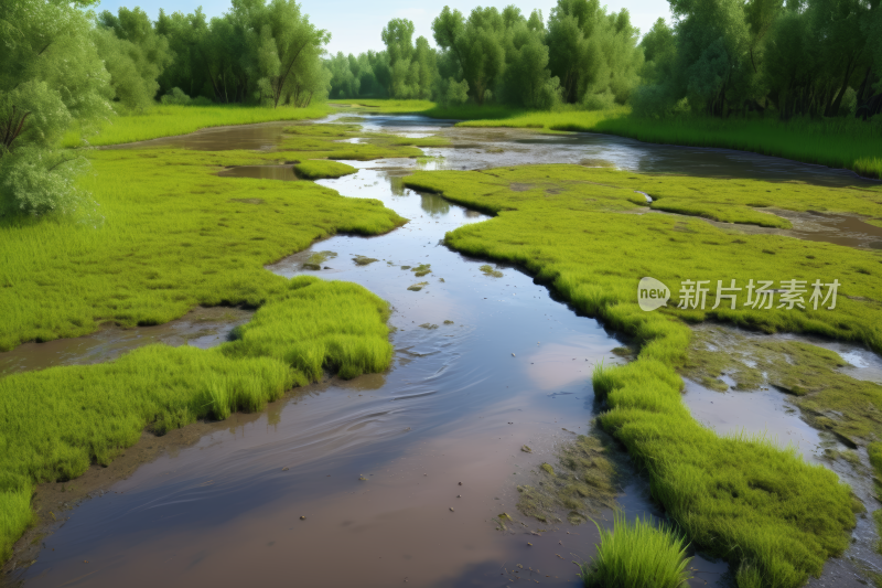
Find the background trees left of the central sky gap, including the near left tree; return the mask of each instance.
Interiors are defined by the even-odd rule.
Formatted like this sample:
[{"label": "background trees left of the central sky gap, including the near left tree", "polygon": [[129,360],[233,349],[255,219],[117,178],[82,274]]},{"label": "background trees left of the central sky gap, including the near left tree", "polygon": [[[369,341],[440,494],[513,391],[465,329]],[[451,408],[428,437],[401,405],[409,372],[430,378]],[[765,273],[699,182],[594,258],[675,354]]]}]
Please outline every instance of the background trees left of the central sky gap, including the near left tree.
[{"label": "background trees left of the central sky gap, including the near left tree", "polygon": [[233,0],[207,20],[97,0],[0,0],[0,216],[72,211],[83,158],[58,148],[119,113],[193,101],[305,107],[324,99],[331,35],[294,0]]}]

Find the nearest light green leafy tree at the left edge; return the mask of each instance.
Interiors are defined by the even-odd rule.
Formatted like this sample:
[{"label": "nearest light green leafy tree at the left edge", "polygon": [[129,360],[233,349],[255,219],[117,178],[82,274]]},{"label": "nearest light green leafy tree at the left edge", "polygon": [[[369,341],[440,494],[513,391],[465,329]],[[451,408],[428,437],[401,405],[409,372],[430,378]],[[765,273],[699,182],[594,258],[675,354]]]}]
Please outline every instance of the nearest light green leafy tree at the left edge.
[{"label": "nearest light green leafy tree at the left edge", "polygon": [[72,212],[85,164],[57,149],[72,121],[88,130],[112,110],[92,24],[60,0],[0,3],[0,216]]}]

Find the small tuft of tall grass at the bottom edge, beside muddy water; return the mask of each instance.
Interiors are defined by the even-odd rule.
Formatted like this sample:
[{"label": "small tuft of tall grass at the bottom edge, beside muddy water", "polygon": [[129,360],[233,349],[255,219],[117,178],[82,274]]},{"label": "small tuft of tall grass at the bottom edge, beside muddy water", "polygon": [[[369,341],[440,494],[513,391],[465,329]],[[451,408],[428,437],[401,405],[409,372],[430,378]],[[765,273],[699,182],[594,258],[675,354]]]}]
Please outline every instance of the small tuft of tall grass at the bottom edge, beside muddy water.
[{"label": "small tuft of tall grass at the bottom edge, beside muddy water", "polygon": [[[596,524],[596,523],[594,523]],[[630,522],[616,511],[613,528],[600,531],[598,553],[580,565],[585,588],[681,588],[690,579],[686,537],[648,517]]]}]

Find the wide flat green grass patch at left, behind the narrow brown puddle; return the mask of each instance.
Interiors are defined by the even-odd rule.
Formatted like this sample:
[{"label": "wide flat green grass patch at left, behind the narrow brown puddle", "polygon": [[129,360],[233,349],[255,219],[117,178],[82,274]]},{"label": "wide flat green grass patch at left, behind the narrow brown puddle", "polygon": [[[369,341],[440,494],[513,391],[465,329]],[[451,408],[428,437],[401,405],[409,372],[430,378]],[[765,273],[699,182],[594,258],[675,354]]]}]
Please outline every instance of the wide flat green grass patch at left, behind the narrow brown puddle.
[{"label": "wide flat green grass patch at left, behind the narrow brown puddle", "polygon": [[88,222],[0,221],[0,350],[106,322],[160,324],[197,304],[256,307],[283,284],[263,265],[337,232],[376,235],[405,223],[378,201],[312,182],[216,175],[227,165],[420,153],[383,139],[342,143],[314,127],[316,136],[291,135],[273,152],[92,151],[80,181],[98,204]]}]

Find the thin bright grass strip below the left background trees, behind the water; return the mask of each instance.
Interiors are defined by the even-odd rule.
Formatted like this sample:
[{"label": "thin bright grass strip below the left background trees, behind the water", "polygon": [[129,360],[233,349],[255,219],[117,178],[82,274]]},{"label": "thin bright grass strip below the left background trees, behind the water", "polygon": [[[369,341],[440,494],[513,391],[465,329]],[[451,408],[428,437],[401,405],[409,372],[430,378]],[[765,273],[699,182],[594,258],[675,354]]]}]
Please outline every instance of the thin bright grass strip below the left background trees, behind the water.
[{"label": "thin bright grass strip below the left background trees, behind the water", "polygon": [[[118,145],[144,141],[160,137],[186,135],[208,127],[251,125],[275,120],[305,120],[322,118],[332,113],[325,104],[308,108],[262,108],[238,105],[171,106],[155,105],[140,115],[115,117],[106,122],[98,135],[87,137],[88,145]],[[78,129],[72,129],[62,141],[64,147],[79,147]]]}]

